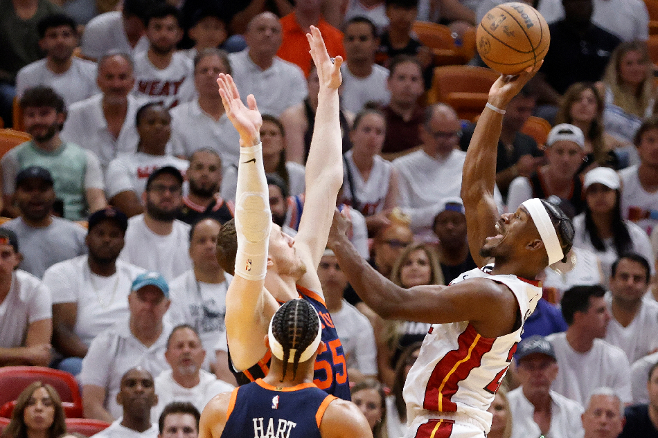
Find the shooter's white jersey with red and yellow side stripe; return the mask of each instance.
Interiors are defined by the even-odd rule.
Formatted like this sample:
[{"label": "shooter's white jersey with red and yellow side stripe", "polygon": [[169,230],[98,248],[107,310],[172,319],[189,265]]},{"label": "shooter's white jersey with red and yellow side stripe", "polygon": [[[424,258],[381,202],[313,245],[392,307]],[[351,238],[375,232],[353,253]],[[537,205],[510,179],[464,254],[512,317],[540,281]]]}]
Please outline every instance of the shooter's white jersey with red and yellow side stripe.
[{"label": "shooter's white jersey with red and yellow side stripe", "polygon": [[[450,284],[484,277],[508,286],[524,322],[542,297],[540,282],[491,275],[492,267],[467,271]],[[484,338],[468,321],[433,324],[404,385],[411,426],[406,436],[414,437],[418,426],[430,419],[466,421],[488,432],[492,415],[487,409],[512,361],[522,329],[523,325],[505,336]]]}]

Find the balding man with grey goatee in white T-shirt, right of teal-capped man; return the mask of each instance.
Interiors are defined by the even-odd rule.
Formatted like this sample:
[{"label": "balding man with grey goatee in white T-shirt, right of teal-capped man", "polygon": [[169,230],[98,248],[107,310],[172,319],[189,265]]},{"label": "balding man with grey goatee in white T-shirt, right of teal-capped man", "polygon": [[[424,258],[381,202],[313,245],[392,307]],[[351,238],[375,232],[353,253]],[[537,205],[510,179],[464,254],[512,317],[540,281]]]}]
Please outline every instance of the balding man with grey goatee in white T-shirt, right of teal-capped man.
[{"label": "balding man with grey goatee in white T-shirt, right of teal-capped man", "polygon": [[172,330],[165,352],[171,369],[155,378],[158,404],[151,412],[152,419],[159,418],[172,401],[188,401],[202,411],[215,395],[233,389],[233,385],[217,380],[214,374],[201,368],[205,356],[206,350],[195,329],[179,325]]}]

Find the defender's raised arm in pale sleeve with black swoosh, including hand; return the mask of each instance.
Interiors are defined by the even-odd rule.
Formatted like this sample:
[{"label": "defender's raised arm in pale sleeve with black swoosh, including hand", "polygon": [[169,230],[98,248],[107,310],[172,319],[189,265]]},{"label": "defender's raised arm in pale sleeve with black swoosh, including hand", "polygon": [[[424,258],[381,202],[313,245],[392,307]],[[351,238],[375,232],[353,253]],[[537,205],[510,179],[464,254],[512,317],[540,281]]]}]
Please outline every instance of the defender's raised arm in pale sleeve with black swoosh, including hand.
[{"label": "defender's raised arm in pale sleeve with black swoosh, including hand", "polygon": [[235,277],[226,293],[226,336],[236,368],[251,367],[265,355],[263,338],[278,304],[265,289],[272,213],[260,147],[263,119],[254,95],[245,107],[230,75],[217,79],[226,116],[240,134],[238,185],[235,192],[235,233],[238,253]]}]

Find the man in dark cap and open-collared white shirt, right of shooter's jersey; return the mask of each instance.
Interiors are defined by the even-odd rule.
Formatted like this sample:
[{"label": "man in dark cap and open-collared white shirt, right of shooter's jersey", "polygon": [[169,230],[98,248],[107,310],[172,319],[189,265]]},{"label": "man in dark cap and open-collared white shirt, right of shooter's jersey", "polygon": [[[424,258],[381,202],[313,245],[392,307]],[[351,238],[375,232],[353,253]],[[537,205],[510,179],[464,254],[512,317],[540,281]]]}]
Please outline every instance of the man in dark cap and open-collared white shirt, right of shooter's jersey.
[{"label": "man in dark cap and open-collared white shirt, right of shooter's jersey", "polygon": [[558,374],[551,343],[539,335],[526,338],[519,343],[514,358],[515,375],[521,386],[507,394],[512,412],[512,437],[583,437],[580,423],[583,407],[551,391],[551,383]]}]

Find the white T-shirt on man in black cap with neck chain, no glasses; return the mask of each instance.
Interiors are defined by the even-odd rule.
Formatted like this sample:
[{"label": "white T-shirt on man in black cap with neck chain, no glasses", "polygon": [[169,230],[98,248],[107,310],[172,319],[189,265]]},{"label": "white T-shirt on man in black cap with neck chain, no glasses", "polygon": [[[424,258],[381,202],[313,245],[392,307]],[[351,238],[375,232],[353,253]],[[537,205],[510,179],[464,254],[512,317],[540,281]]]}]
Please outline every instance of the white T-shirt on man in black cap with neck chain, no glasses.
[{"label": "white T-shirt on man in black cap with neck chain, no glasses", "polygon": [[144,272],[142,268],[117,260],[116,273],[102,277],[91,273],[88,259],[87,255],[81,255],[53,264],[43,279],[53,294],[53,304],[77,304],[78,318],[73,331],[87,347],[116,321],[128,317],[132,280]]}]

